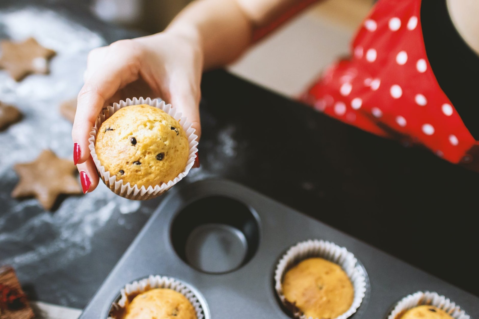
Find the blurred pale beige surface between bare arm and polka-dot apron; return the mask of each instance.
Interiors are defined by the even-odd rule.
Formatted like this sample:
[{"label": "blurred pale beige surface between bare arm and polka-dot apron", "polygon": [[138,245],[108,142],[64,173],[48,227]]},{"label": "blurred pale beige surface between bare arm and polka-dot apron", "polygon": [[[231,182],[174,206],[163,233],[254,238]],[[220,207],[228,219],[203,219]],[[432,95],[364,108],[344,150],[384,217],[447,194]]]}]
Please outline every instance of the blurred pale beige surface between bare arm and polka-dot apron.
[{"label": "blurred pale beige surface between bare arm and polka-dot apron", "polygon": [[258,43],[228,70],[297,97],[331,62],[348,54],[352,36],[350,30],[306,12]]}]

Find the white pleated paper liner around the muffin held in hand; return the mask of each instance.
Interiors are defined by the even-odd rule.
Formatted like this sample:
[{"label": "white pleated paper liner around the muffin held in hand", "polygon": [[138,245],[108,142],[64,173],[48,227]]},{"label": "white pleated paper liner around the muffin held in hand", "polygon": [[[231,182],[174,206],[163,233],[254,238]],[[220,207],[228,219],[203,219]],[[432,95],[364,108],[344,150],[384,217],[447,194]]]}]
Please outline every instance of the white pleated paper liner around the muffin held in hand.
[{"label": "white pleated paper liner around the muffin held in hand", "polygon": [[[158,107],[159,109],[165,111],[167,114],[170,114],[172,117],[174,117],[178,122],[180,122],[180,125],[182,125],[183,130],[188,137],[188,146],[190,148],[190,151],[188,153],[188,161],[186,162],[186,167],[184,168],[184,171],[182,171],[172,181],[163,183],[161,185],[148,186],[148,188],[146,188],[145,186],[141,186],[138,188],[136,184],[131,186],[129,182],[124,184],[122,179],[116,180],[116,175],[110,175],[110,172],[105,170],[105,167],[100,163],[100,160],[98,159],[98,156],[95,152],[95,139],[98,133],[98,129],[100,128],[102,123],[122,107],[137,104],[148,104],[154,107]],[[190,171],[190,169],[193,167],[194,159],[196,158],[196,152],[198,151],[198,149],[196,148],[196,146],[198,145],[198,136],[194,134],[195,130],[193,127],[191,127],[191,125],[192,124],[187,121],[186,117],[182,117],[182,114],[178,112],[176,108],[172,107],[171,104],[165,104],[165,102],[161,101],[161,99],[151,100],[150,98],[143,99],[141,97],[134,99],[126,99],[126,101],[114,103],[113,106],[108,106],[107,108],[103,109],[103,114],[100,114],[98,116],[95,126],[90,132],[90,138],[88,139],[88,141],[90,142],[89,148],[91,152],[91,157],[95,162],[96,168],[100,173],[100,177],[102,178],[103,182],[115,194],[128,199],[150,199],[159,196],[161,193],[170,189],[171,186],[181,181],[182,178],[185,177]]]}]

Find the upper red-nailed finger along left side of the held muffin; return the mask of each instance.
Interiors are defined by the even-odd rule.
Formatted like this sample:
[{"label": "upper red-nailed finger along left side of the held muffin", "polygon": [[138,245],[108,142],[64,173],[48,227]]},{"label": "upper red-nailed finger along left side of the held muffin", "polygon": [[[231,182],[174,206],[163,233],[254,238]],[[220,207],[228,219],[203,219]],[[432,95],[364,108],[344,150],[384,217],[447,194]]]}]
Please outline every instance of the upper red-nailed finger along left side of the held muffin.
[{"label": "upper red-nailed finger along left side of the held muffin", "polygon": [[132,40],[115,42],[107,48],[92,51],[89,59],[72,129],[76,163],[83,163],[90,157],[88,138],[91,127],[106,101],[126,84],[137,80],[140,68],[139,53]]}]

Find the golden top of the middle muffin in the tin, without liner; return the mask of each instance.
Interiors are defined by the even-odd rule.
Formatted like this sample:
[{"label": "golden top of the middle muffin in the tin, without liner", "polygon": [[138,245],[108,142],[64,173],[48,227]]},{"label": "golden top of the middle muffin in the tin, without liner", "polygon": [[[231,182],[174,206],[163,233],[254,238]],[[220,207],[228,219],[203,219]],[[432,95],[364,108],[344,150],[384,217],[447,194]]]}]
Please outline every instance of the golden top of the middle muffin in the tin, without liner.
[{"label": "golden top of the middle muffin in the tin, without liner", "polygon": [[285,273],[283,294],[306,317],[336,318],[353,304],[354,288],[334,262],[309,258]]}]

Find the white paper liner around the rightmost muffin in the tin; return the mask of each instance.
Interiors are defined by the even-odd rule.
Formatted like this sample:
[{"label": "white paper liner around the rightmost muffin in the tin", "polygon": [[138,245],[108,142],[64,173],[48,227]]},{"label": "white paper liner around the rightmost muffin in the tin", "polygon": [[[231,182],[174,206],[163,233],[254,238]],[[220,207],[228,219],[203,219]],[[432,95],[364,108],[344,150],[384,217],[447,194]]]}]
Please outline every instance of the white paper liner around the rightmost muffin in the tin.
[{"label": "white paper liner around the rightmost muffin in the tin", "polygon": [[429,291],[418,291],[402,298],[391,311],[388,319],[399,319],[399,316],[402,316],[407,310],[422,305],[442,309],[454,319],[470,319],[469,315],[464,310],[461,310],[461,307],[449,300],[449,298]]}]

